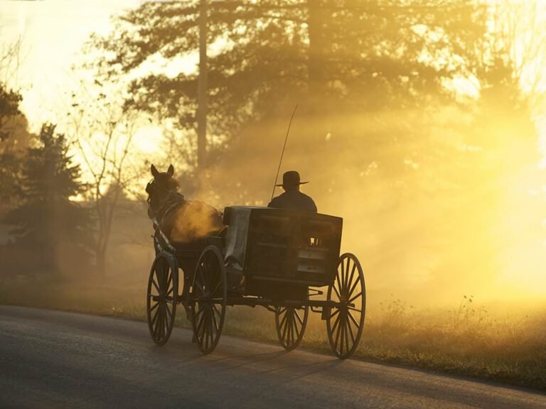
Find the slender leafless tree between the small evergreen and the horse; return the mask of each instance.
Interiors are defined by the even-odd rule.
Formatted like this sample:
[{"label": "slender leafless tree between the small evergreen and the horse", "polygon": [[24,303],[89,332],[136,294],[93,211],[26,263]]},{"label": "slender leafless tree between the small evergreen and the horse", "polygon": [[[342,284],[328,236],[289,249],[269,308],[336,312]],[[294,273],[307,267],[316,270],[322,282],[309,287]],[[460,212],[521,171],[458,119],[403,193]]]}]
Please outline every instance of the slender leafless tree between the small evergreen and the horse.
[{"label": "slender leafless tree between the small evergreen and the horse", "polygon": [[104,275],[114,214],[124,193],[139,177],[133,152],[138,117],[118,103],[122,98],[112,87],[97,80],[80,84],[80,92],[72,95],[69,125],[84,175],[90,180],[88,199],[97,223],[96,266],[97,272]]}]

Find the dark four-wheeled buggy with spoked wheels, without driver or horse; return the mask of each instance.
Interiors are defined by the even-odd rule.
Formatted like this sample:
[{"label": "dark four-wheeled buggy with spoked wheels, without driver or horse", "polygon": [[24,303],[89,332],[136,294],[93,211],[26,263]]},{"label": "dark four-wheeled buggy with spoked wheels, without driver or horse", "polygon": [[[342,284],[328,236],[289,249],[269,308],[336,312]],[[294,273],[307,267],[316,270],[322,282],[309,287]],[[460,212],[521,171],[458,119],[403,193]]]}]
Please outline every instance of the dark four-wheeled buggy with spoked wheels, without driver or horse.
[{"label": "dark four-wheeled buggy with spoked wheels, without driver or horse", "polygon": [[[167,205],[156,209],[163,220],[181,206],[168,197]],[[186,202],[186,219],[192,205],[203,206]],[[274,312],[284,349],[299,345],[311,310],[326,321],[334,353],[351,356],[363,330],[365,283],[356,256],[340,256],[343,220],[267,207],[235,206],[211,214],[217,229],[182,242],[171,241],[162,229],[165,222],[154,217],[156,258],[146,309],[154,342],[167,342],[182,305],[193,341],[209,354],[222,334],[228,305],[262,306]]]}]

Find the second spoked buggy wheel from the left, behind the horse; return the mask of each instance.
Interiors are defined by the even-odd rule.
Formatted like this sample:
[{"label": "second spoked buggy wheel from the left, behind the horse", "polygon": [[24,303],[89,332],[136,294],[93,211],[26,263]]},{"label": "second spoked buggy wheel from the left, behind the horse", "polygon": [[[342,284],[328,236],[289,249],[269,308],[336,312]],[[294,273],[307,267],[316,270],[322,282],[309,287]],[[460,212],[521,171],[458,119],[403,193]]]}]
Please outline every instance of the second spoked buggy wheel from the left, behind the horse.
[{"label": "second spoked buggy wheel from the left, behind the horse", "polygon": [[216,247],[209,246],[197,263],[191,293],[193,337],[203,354],[210,354],[218,344],[224,326],[226,300],[223,257]]}]

